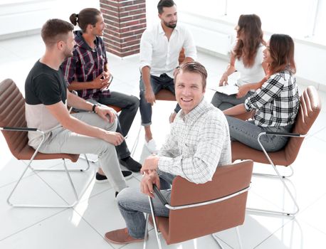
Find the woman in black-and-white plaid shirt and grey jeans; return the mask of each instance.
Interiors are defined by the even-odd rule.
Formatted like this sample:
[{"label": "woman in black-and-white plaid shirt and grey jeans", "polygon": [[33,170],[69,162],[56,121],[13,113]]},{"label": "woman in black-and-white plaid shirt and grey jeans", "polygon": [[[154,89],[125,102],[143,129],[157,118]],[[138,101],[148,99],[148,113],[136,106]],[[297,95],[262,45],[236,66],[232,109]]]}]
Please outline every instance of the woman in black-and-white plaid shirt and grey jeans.
[{"label": "woman in black-and-white plaid shirt and grey jeans", "polygon": [[[258,134],[261,132],[291,132],[299,108],[298,86],[295,81],[294,43],[284,34],[273,34],[263,60],[268,63],[269,77],[261,89],[248,97],[243,104],[224,111],[232,141],[261,150]],[[238,120],[239,115],[255,111],[253,120]],[[267,152],[276,152],[288,142],[288,137],[263,136],[261,143]]]}]

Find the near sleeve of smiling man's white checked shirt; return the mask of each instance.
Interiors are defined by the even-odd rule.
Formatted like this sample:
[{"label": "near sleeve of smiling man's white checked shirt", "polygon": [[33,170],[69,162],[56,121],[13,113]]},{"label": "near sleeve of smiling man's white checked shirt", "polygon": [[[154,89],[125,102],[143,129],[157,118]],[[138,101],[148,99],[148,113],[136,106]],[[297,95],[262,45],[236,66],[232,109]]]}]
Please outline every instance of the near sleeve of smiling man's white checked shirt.
[{"label": "near sleeve of smiling man's white checked shirt", "polygon": [[[209,119],[209,122],[207,122]],[[211,181],[221,157],[224,141],[228,139],[223,121],[210,115],[196,122],[188,132],[177,134],[186,137],[184,143],[172,145],[177,157],[159,157],[159,169],[170,174],[182,176],[188,181],[203,184]],[[181,127],[184,128],[184,127]],[[177,137],[177,136],[174,136]],[[169,142],[169,140],[167,140]],[[191,144],[192,143],[192,144]]]}]

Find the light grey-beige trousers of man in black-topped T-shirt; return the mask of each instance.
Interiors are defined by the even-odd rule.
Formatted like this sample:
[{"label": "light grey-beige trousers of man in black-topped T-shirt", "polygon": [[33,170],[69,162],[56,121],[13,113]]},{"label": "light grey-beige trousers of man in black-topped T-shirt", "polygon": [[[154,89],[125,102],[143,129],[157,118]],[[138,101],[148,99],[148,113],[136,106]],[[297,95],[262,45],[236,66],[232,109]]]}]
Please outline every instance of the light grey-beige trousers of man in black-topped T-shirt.
[{"label": "light grey-beige trousers of man in black-topped T-shirt", "polygon": [[[78,118],[87,124],[100,127],[107,131],[115,132],[117,120],[109,123],[92,112],[74,113],[73,117]],[[50,137],[43,143],[40,152],[43,153],[68,153],[68,154],[97,154],[100,167],[110,181],[115,191],[120,192],[127,186],[120,170],[115,146],[102,139],[88,137],[68,129],[58,127],[51,132]]]}]

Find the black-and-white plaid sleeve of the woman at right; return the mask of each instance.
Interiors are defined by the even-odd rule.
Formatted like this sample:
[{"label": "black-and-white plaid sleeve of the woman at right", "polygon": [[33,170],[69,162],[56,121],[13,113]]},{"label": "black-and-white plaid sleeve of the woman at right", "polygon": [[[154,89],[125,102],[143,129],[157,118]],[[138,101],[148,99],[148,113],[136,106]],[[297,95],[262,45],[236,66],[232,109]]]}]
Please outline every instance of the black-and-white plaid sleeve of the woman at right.
[{"label": "black-and-white plaid sleeve of the woman at right", "polygon": [[245,108],[247,111],[253,109],[261,109],[268,102],[275,99],[283,90],[284,79],[280,74],[271,75],[270,78],[261,86],[261,89],[256,90],[251,97],[248,97],[245,102]]}]

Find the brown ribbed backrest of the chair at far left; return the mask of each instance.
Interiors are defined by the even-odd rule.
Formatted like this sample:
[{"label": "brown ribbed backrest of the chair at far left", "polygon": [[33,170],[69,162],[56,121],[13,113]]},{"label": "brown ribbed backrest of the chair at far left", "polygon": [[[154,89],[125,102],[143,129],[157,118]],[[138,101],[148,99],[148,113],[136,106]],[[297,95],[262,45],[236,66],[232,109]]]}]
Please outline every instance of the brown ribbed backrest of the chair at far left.
[{"label": "brown ribbed backrest of the chair at far left", "polygon": [[[0,83],[0,127],[26,127],[25,100],[11,79]],[[2,131],[14,157],[28,143],[27,132]]]}]

